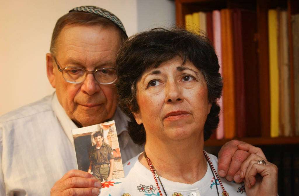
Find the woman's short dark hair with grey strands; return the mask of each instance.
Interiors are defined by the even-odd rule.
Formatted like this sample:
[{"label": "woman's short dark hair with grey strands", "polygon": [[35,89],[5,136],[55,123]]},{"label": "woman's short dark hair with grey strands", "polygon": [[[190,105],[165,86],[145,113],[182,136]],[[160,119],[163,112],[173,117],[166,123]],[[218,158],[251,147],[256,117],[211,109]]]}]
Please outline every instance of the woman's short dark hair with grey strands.
[{"label": "woman's short dark hair with grey strands", "polygon": [[[171,30],[154,28],[135,34],[121,46],[116,59],[118,81],[115,83],[119,106],[129,116],[129,135],[138,145],[143,145],[146,133],[143,124],[136,123],[132,112],[138,112],[136,82],[149,68],[181,57],[183,65],[190,61],[204,75],[208,87],[208,99],[212,104],[204,126],[204,140],[219,123],[220,107],[216,99],[222,93],[222,78],[214,48],[208,38],[180,28]],[[200,111],[199,111],[200,112]]]}]

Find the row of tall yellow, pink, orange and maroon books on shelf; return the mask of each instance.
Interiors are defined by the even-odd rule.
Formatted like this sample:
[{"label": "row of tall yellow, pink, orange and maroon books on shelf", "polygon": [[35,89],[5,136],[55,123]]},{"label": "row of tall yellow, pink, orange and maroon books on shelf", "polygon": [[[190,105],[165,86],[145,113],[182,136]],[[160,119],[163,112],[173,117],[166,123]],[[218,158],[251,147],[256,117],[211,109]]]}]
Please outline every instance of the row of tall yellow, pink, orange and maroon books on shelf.
[{"label": "row of tall yellow, pink, orange and maroon books on shelf", "polygon": [[[292,16],[290,51],[287,11],[268,10],[271,137],[299,135],[298,19],[299,14]],[[256,12],[244,9],[196,12],[185,15],[185,27],[206,35],[219,60],[223,92],[218,102],[219,127],[212,138],[260,137],[263,92],[259,88]]]}]

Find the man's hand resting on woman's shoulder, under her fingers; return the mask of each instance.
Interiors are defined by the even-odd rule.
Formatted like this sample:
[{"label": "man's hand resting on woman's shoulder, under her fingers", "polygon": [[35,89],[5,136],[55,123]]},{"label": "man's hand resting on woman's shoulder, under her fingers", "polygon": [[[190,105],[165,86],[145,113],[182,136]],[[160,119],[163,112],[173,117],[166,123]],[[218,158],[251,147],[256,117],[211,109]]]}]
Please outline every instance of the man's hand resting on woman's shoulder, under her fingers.
[{"label": "man's hand resting on woman's shoulder, under her fingers", "polygon": [[[238,145],[246,145],[246,150],[241,150]],[[247,149],[248,148],[248,149]],[[258,150],[259,149],[259,150]],[[250,154],[264,157],[263,151],[246,142],[231,140],[222,146],[218,153],[218,174],[227,180],[242,182],[240,178],[240,167]]]}]

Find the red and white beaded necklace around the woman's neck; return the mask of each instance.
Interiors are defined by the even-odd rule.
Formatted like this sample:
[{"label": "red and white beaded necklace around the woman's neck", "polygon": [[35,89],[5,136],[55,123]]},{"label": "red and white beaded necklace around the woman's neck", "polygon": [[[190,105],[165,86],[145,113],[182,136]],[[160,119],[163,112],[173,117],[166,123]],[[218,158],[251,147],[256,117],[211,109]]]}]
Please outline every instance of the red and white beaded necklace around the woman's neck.
[{"label": "red and white beaded necklace around the woman's neck", "polygon": [[[220,178],[219,178],[219,176],[218,176],[218,174],[217,174],[217,172],[216,172],[216,170],[215,170],[215,168],[214,168],[214,166],[213,166],[213,163],[212,163],[212,161],[210,160],[210,157],[208,156],[208,154],[207,154],[205,151],[204,151],[204,154],[205,154],[205,158],[207,159],[207,161],[208,161],[208,163],[209,163],[209,165],[210,165],[212,174],[213,174],[213,176],[214,176],[214,180],[215,180],[215,184],[216,184],[216,189],[217,189],[218,196],[219,196],[219,192],[218,192],[218,187],[217,187],[217,181],[216,181],[216,178],[217,178],[219,184],[220,184],[221,187],[222,187],[222,190],[223,190],[222,193],[223,193],[223,195],[228,196],[228,192],[226,192],[226,190],[225,190],[225,188],[224,188],[224,186],[223,186],[223,184],[222,184],[222,182],[221,182],[221,180],[220,180]],[[162,189],[163,189],[163,192],[164,192],[165,196],[167,196],[167,194],[166,194],[166,192],[165,192],[165,189],[164,189],[164,187],[163,187],[163,184],[162,184],[162,182],[161,182],[161,180],[160,180],[160,177],[158,176],[158,174],[157,174],[157,172],[156,172],[154,166],[152,165],[152,162],[150,161],[149,157],[147,157],[147,154],[146,154],[145,152],[144,152],[144,157],[147,159],[147,164],[149,165],[149,168],[150,168],[150,170],[152,171],[152,175],[153,175],[154,180],[155,180],[155,182],[156,182],[156,186],[157,186],[157,188],[158,188],[158,192],[160,193],[160,196],[162,196],[162,192],[161,192],[160,186],[159,186],[159,184],[158,184],[158,180],[159,180],[159,182],[160,182],[160,184],[161,184],[161,187],[162,187]],[[214,174],[216,175],[216,178],[215,178],[215,175],[214,175]],[[157,177],[156,177],[156,176],[157,176]],[[157,180],[157,179],[158,179],[158,180]]]}]

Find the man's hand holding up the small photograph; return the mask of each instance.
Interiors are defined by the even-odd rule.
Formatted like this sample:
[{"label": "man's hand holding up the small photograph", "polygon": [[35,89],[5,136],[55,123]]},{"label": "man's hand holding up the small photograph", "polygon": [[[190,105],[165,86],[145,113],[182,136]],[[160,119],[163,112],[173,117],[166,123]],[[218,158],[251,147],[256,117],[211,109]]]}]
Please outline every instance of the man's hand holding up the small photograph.
[{"label": "man's hand holding up the small photograph", "polygon": [[100,193],[102,183],[86,171],[70,170],[51,189],[51,196],[86,195],[95,196]]}]

